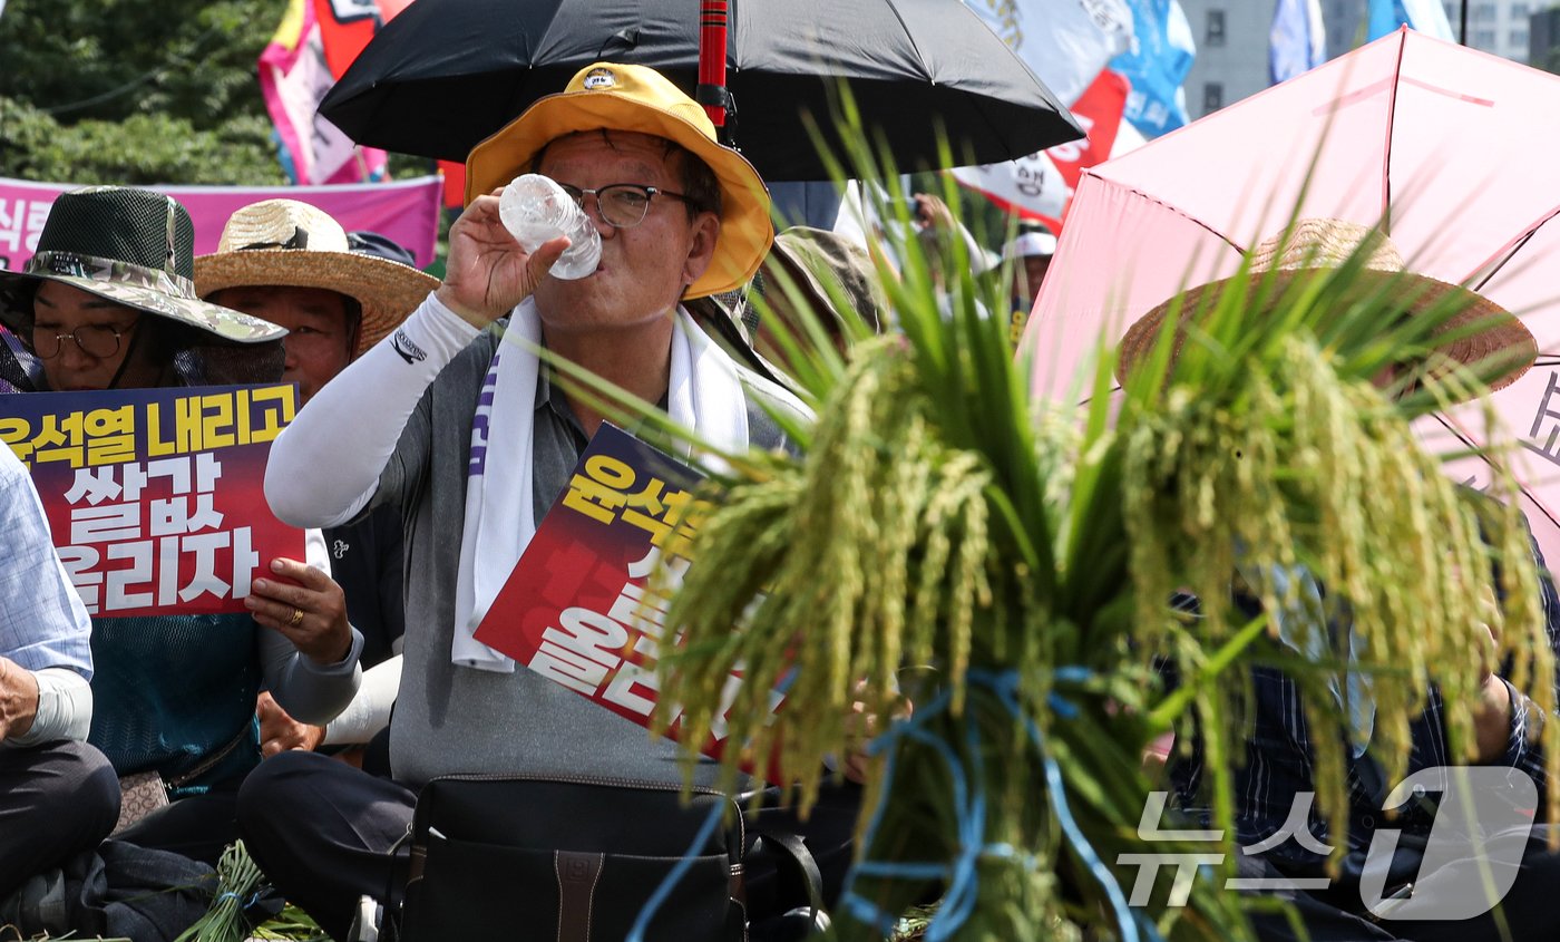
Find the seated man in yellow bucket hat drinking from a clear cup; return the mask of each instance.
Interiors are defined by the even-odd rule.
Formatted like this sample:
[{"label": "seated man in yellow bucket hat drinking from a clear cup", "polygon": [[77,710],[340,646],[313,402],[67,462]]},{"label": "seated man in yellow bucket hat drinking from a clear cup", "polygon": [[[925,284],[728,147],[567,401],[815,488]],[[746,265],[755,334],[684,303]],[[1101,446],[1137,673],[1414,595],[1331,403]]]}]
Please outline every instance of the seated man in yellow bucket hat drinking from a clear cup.
[{"label": "seated man in yellow bucket hat drinking from a clear cup", "polygon": [[[549,276],[566,240],[526,253],[502,228],[495,193],[527,170],[563,184],[596,225],[594,274]],[[407,833],[420,789],[437,775],[682,781],[675,744],[651,741],[473,638],[604,421],[590,398],[554,384],[515,340],[541,343],[661,404],[722,449],[783,448],[772,412],[805,418],[783,388],[733,363],[682,306],[746,284],[772,231],[758,173],[655,72],[580,70],[563,94],[541,98],[471,153],[466,195],[443,284],[315,395],[267,469],[267,498],[282,519],[337,526],[388,504],[407,527],[393,780],[287,752],[240,794],[251,853],[335,937],[359,897],[385,892],[385,852]],[[321,462],[334,473],[314,474]],[[708,763],[697,770],[704,783],[713,775]],[[855,805],[835,816],[819,809],[805,825],[825,889],[838,892],[853,823]],[[764,880],[747,878],[755,905]]]}]

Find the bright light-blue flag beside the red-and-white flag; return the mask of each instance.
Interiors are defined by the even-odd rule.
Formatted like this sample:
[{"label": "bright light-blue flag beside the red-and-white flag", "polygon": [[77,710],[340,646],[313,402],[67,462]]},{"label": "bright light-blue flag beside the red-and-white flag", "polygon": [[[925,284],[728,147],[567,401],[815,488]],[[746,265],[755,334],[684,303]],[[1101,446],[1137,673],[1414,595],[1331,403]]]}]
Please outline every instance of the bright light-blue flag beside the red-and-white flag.
[{"label": "bright light-blue flag beside the red-and-white flag", "polygon": [[1133,45],[1111,59],[1133,90],[1122,112],[1143,137],[1158,137],[1187,122],[1181,83],[1197,58],[1192,25],[1179,0],[1128,0]]}]

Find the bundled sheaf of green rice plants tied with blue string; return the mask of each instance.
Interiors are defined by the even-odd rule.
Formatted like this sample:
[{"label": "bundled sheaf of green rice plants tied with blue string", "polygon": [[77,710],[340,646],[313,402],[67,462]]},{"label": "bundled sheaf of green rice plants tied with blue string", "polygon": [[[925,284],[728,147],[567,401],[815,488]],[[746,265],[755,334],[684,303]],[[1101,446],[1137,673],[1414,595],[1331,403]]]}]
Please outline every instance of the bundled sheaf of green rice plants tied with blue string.
[{"label": "bundled sheaf of green rice plants tied with blue string", "polygon": [[[908,231],[892,168],[866,142],[849,159],[852,176],[888,181],[880,212]],[[1245,937],[1250,900],[1221,889],[1226,872],[1200,873],[1184,906],[1165,886],[1128,905],[1136,867],[1119,861],[1189,850],[1145,844],[1137,825],[1154,788],[1143,749],[1168,730],[1189,741],[1193,716],[1217,823],[1232,833],[1253,663],[1281,663],[1314,722],[1340,728],[1329,678],[1371,675],[1388,775],[1432,678],[1466,703],[1512,657],[1518,688],[1554,708],[1512,479],[1498,474],[1496,501],[1471,494],[1409,429],[1485,379],[1437,362],[1454,303],[1404,320],[1407,287],[1367,284],[1360,259],[1253,274],[1250,290],[1172,306],[1175,329],[1114,404],[1115,357],[1101,357],[1075,409],[1028,398],[1006,324],[986,315],[1000,293],[969,274],[959,240],[928,259],[894,232],[878,260],[902,334],[858,343],[846,363],[817,357],[802,371],[817,421],[792,429],[800,454],[749,455],[714,479],[668,616],[682,646],[660,664],[661,703],[680,705],[683,728],[708,728],[741,671],[727,728],[744,749],[727,750],[725,781],[749,763],[794,783],[802,806],[863,747],[855,705],[900,717],[870,741],[839,937],[892,937],[928,897],[941,898],[928,939]],[[1377,388],[1406,356],[1426,363],[1413,388]],[[1264,611],[1296,613],[1282,577],[1296,568],[1346,605],[1353,660],[1296,658],[1270,618],[1234,605],[1239,586]],[[1172,608],[1178,591],[1198,618]],[[1326,618],[1292,622],[1301,649],[1337,650]],[[774,688],[786,703],[771,722]],[[1473,747],[1471,722],[1449,710],[1459,749]],[[1551,763],[1557,735],[1543,733]],[[1335,830],[1342,749],[1317,738],[1318,808]]]}]

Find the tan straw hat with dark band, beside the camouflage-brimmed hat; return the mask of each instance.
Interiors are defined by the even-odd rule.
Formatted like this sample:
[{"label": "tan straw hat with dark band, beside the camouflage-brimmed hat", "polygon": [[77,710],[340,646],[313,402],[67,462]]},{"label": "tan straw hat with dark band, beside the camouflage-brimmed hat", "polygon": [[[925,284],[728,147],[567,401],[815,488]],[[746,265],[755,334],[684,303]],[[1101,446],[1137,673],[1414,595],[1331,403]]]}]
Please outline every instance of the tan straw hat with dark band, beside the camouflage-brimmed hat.
[{"label": "tan straw hat with dark band, beside the camouflage-brimmed hat", "polygon": [[215,254],[195,259],[201,298],[234,287],[326,289],[363,307],[359,356],[396,329],[438,287],[410,265],[348,246],[346,231],[324,211],[296,200],[251,203],[222,228]]}]

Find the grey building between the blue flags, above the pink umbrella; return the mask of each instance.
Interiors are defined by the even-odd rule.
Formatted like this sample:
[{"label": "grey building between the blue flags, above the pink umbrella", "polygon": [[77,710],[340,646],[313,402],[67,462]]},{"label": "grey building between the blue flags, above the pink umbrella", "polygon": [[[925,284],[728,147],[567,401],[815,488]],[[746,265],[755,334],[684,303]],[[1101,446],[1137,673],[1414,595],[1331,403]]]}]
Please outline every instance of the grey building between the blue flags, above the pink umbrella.
[{"label": "grey building between the blue flags, above the pink umbrella", "polygon": [[1193,119],[1268,86],[1273,0],[1181,0],[1181,8],[1197,41],[1197,59],[1182,84]]}]

